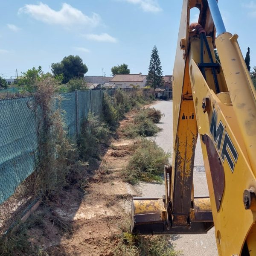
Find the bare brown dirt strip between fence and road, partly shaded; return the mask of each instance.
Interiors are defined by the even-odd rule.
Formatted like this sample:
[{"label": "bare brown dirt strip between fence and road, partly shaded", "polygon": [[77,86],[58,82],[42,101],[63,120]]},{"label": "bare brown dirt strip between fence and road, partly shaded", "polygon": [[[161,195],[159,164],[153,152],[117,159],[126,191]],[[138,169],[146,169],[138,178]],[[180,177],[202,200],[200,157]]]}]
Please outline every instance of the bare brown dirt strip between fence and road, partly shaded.
[{"label": "bare brown dirt strip between fence and road, partly shaded", "polygon": [[[122,182],[119,174],[129,158],[125,149],[131,143],[132,140],[112,143],[115,149],[108,149],[83,189],[76,185],[67,187],[50,203],[48,213],[44,206],[38,209],[37,214],[44,214],[44,223],[31,230],[35,244],[43,245],[51,256],[113,255],[119,242],[115,238],[120,233],[119,224],[127,221],[123,214],[130,211],[131,198],[138,194],[133,186]],[[122,157],[116,157],[116,152]]]}]

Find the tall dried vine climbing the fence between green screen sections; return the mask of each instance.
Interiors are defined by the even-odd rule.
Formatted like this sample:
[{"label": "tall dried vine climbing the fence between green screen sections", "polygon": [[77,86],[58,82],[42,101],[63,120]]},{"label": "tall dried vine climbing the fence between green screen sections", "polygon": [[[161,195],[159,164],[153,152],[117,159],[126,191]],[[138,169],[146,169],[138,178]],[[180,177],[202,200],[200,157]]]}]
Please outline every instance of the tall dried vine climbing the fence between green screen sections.
[{"label": "tall dried vine climbing the fence between green screen sections", "polygon": [[37,83],[34,110],[38,118],[38,157],[33,174],[35,194],[50,198],[67,183],[70,161],[76,158],[75,146],[67,138],[62,113],[55,108],[61,97],[54,94],[58,82],[47,78]]}]

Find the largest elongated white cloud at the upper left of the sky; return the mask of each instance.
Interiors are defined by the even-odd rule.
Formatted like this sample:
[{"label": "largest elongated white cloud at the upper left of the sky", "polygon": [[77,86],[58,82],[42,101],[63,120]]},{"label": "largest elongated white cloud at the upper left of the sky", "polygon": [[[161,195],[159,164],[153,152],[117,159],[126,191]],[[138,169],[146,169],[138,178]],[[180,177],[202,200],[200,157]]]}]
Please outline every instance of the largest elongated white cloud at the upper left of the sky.
[{"label": "largest elongated white cloud at the upper left of the sky", "polygon": [[89,17],[67,3],[63,3],[59,11],[55,11],[41,2],[38,5],[26,4],[19,9],[18,13],[26,13],[36,20],[65,27],[74,25],[97,26],[101,20],[98,14],[93,13],[92,17]]}]

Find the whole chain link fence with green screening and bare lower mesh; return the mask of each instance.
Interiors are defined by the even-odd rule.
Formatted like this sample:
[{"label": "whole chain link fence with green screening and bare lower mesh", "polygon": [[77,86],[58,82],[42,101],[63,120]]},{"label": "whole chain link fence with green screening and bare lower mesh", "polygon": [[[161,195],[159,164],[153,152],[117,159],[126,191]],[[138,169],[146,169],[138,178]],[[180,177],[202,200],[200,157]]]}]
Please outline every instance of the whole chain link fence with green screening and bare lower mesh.
[{"label": "whole chain link fence with green screening and bare lower mesh", "polygon": [[[104,93],[114,96],[115,91],[87,90],[60,93],[52,108],[61,110],[68,136],[76,139],[88,113],[103,117]],[[135,96],[136,91],[129,90],[130,96]],[[154,94],[150,89],[141,91],[144,96]],[[34,96],[0,100],[0,229],[3,221],[9,223],[4,226],[5,228],[10,227],[18,212],[26,211],[33,205],[33,196],[25,195],[26,192],[22,192],[20,196],[18,192],[22,190],[20,187],[23,186],[23,182],[33,186],[30,177],[32,173],[35,174],[38,162],[41,122],[42,111],[35,104]],[[19,186],[20,184],[22,185]],[[10,221],[6,221],[6,218]]]}]

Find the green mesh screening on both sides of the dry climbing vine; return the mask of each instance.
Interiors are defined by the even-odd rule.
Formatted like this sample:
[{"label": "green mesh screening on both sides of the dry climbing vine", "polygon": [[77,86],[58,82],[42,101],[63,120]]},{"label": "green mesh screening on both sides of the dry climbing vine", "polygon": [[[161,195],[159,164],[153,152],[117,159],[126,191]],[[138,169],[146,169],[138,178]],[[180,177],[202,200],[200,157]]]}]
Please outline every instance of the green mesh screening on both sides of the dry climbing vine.
[{"label": "green mesh screening on both sides of the dry climbing vine", "polygon": [[[102,90],[60,95],[62,99],[56,102],[55,108],[63,110],[70,137],[76,136],[76,127],[80,131],[89,111],[102,116]],[[35,111],[33,103],[33,96],[0,100],[0,204],[35,170],[40,109],[37,107]]]}]

